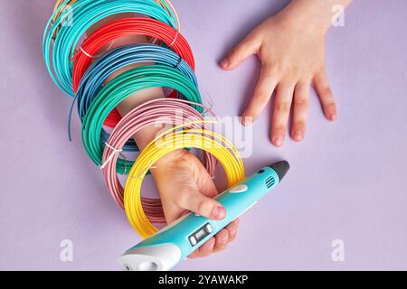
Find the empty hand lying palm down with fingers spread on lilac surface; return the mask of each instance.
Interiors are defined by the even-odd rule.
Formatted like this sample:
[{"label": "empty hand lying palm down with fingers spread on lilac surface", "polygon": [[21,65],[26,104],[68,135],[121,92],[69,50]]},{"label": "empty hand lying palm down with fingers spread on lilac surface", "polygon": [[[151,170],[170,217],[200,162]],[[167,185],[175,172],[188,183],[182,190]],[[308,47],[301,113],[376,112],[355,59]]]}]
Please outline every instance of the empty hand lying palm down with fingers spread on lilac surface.
[{"label": "empty hand lying palm down with fingers spread on lilac surface", "polygon": [[295,141],[304,138],[310,85],[317,90],[327,119],[337,117],[325,70],[328,26],[315,23],[315,15],[294,9],[289,6],[261,23],[221,62],[223,70],[233,70],[252,54],[259,57],[260,79],[242,113],[243,124],[259,117],[275,92],[270,139],[277,146],[284,143],[291,107],[290,135]]}]

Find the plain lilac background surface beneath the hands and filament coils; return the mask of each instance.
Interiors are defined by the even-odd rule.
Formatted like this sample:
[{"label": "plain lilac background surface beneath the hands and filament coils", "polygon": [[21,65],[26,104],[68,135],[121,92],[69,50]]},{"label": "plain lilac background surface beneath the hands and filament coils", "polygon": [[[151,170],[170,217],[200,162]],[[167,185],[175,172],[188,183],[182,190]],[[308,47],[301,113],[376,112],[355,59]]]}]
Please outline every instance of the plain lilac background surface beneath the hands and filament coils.
[{"label": "plain lilac background surface beneath the hands and filament coils", "polygon": [[[217,61],[287,2],[174,0],[219,115],[240,113],[259,64],[251,58],[223,72]],[[138,238],[82,150],[77,117],[67,142],[71,102],[42,57],[52,3],[0,0],[0,269],[118,270],[116,257]],[[328,123],[313,95],[306,140],[278,149],[264,112],[246,172],[285,158],[287,179],[241,219],[226,251],[175,269],[407,269],[406,12],[404,0],[349,7],[345,27],[327,36],[339,120]],[[60,260],[65,238],[74,244],[71,263]],[[336,238],[345,241],[342,263],[331,260]]]}]

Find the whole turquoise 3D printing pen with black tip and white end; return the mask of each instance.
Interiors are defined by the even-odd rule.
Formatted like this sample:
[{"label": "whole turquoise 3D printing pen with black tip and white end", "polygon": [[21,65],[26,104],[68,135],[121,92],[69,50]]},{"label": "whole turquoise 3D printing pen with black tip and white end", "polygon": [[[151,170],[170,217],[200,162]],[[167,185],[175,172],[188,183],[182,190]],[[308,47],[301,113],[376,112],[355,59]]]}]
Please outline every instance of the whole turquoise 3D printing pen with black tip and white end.
[{"label": "whole turquoise 3D printing pen with black tip and white end", "polygon": [[215,199],[226,209],[222,220],[206,219],[194,213],[185,215],[135,247],[118,262],[127,271],[162,271],[185,259],[206,240],[249,210],[276,187],[289,171],[289,163],[281,161],[262,168],[249,178],[223,191]]}]

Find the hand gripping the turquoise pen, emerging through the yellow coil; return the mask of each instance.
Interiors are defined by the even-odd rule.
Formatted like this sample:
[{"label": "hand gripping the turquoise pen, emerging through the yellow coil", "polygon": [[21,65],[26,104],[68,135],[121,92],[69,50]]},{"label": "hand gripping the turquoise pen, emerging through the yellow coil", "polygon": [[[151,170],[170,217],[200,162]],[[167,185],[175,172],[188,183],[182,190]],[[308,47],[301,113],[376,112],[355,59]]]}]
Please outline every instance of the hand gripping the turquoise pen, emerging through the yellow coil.
[{"label": "hand gripping the turquoise pen, emerging through the yellow coil", "polygon": [[[189,210],[209,219],[226,216],[222,205],[213,200],[217,191],[211,176],[194,154],[185,150],[167,154],[155,164],[152,172],[168,224]],[[239,219],[236,219],[190,257],[208,256],[223,250],[236,238],[238,226]]]}]

